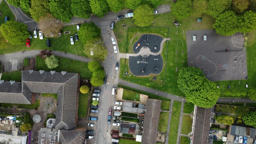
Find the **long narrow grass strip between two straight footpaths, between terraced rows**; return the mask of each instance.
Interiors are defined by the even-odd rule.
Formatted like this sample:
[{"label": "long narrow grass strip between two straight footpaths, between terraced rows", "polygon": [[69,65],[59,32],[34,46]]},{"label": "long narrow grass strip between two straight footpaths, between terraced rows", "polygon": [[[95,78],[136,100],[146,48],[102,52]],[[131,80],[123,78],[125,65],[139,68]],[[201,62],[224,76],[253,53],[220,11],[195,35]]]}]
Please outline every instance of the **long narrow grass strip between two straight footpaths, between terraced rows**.
[{"label": "long narrow grass strip between two straight footpaths, between terraced rows", "polygon": [[170,131],[169,131],[169,139],[168,144],[176,144],[178,137],[178,129],[179,129],[179,116],[180,116],[181,102],[173,101],[173,111],[170,122]]}]

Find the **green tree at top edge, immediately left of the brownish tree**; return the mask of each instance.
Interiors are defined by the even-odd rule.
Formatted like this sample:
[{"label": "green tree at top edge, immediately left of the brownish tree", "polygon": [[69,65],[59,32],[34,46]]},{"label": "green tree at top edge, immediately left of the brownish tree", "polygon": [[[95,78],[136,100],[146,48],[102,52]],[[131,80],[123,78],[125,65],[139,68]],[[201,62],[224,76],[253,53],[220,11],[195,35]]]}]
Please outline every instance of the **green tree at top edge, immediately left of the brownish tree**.
[{"label": "green tree at top edge, immediately left of the brownish tree", "polygon": [[209,0],[207,4],[208,12],[213,18],[226,10],[231,10],[232,0]]}]

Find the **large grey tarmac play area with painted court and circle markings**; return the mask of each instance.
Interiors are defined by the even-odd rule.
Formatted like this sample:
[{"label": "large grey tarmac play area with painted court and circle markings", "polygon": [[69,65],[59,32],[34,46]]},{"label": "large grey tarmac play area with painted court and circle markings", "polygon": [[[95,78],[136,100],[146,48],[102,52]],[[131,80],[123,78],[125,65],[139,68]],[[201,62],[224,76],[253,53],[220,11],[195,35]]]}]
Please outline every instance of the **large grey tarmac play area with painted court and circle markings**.
[{"label": "large grey tarmac play area with painted court and circle markings", "polygon": [[248,76],[242,33],[221,36],[215,30],[197,30],[186,31],[186,37],[188,66],[199,67],[207,79],[241,80]]}]

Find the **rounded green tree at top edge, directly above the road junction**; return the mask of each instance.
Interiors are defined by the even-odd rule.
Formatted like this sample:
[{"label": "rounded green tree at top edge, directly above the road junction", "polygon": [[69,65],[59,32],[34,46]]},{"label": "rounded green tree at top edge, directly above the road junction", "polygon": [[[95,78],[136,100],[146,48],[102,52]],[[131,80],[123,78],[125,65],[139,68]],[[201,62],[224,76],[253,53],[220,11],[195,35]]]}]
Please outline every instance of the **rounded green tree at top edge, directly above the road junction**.
[{"label": "rounded green tree at top edge, directly above the road junction", "polygon": [[107,2],[104,0],[89,0],[92,13],[98,17],[103,17],[108,12]]}]

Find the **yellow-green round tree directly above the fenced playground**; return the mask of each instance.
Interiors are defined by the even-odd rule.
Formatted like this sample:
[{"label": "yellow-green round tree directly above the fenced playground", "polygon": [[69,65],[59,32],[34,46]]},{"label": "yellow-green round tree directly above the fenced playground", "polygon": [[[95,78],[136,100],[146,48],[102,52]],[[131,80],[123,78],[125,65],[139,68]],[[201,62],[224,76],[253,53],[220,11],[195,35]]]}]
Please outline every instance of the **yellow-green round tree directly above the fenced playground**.
[{"label": "yellow-green round tree directly above the fenced playground", "polygon": [[153,22],[154,14],[153,14],[153,8],[151,8],[149,5],[144,4],[137,7],[136,10],[134,10],[134,20],[135,24],[141,27],[149,26]]}]

